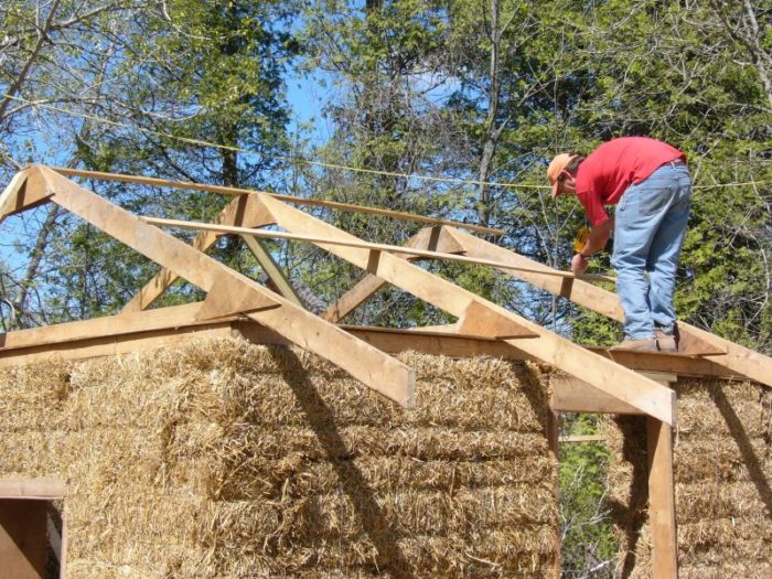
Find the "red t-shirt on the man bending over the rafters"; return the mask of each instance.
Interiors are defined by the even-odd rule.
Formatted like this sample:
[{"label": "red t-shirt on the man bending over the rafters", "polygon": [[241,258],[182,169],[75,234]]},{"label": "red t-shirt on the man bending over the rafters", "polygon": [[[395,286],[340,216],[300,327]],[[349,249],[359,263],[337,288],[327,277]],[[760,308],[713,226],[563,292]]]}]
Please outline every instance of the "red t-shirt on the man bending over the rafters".
[{"label": "red t-shirt on the man bending over the rafters", "polygon": [[621,137],[598,147],[577,171],[577,196],[585,205],[590,225],[600,225],[609,218],[603,205],[615,205],[631,184],[644,181],[676,159],[686,161],[686,156],[648,137]]}]

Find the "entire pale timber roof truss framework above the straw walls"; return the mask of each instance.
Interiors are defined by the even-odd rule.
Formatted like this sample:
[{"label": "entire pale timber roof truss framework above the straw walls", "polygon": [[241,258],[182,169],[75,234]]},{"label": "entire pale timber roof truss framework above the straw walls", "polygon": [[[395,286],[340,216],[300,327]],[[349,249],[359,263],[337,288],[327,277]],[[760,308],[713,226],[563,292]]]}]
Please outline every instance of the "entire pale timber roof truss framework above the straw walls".
[{"label": "entire pale timber roof truss framework above the straw walls", "polygon": [[[3,350],[30,347],[42,343],[41,341],[104,335],[108,328],[115,332],[116,324],[126,331],[136,331],[148,324],[183,325],[240,314],[331,361],[398,404],[410,407],[414,401],[414,371],[357,337],[355,332],[339,325],[380,287],[390,283],[458,318],[454,324],[423,329],[425,331],[495,340],[523,357],[542,361],[564,371],[573,377],[576,387],[582,385],[581,387],[591,388],[601,399],[613,403],[614,407],[630,408],[671,426],[675,423],[675,396],[666,386],[618,363],[612,358],[613,354],[593,352],[573,344],[418,267],[414,261],[454,259],[495,267],[517,279],[621,320],[622,311],[614,293],[464,233],[459,227],[449,225],[450,222],[440,221],[421,229],[404,247],[371,244],[290,206],[289,201],[292,200],[287,197],[277,199],[278,196],[268,193],[197,184],[189,189],[233,194],[235,199],[212,224],[172,222],[133,215],[69,181],[62,172],[65,171],[33,165],[17,174],[0,195],[0,218],[41,203],[56,203],[154,260],[162,269],[127,303],[119,315],[11,332],[4,336]],[[152,181],[151,184],[154,185],[184,185],[146,178],[69,172],[81,176],[124,179],[131,182]],[[426,219],[429,218],[422,218]],[[259,229],[267,225],[278,225],[283,232]],[[201,230],[190,246],[164,233],[161,226]],[[244,237],[277,291],[269,290],[206,255],[224,234]],[[322,315],[314,315],[302,307],[291,283],[272,261],[259,237],[287,237],[312,243],[362,268],[368,276]],[[206,299],[189,307],[146,312],[178,278],[200,287],[207,293]],[[772,382],[772,361],[769,357],[687,324],[682,323],[680,328],[685,354],[710,356],[712,363],[732,373],[764,384]],[[0,355],[1,352],[0,350]]]}]

